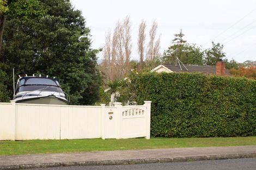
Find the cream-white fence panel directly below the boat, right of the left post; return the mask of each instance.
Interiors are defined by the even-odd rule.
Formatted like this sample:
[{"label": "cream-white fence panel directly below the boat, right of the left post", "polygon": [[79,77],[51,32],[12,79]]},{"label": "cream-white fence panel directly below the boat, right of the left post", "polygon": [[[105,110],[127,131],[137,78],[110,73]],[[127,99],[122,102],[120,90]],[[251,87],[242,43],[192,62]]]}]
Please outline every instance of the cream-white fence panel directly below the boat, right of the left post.
[{"label": "cream-white fence panel directly below the boat, right of the left post", "polygon": [[59,139],[60,106],[16,104],[16,140]]}]

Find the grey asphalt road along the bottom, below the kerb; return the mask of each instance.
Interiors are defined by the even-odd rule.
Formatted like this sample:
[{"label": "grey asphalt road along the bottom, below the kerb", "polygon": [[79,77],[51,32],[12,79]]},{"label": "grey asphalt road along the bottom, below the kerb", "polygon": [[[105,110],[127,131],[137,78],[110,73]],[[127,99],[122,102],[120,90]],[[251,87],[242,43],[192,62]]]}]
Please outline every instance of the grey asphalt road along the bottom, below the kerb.
[{"label": "grey asphalt road along the bottom, below the kerb", "polygon": [[38,168],[33,170],[115,170],[115,169],[143,169],[143,170],[255,170],[256,158],[230,159],[230,160],[208,160],[192,162],[170,162],[170,163],[144,163],[136,165],[109,165],[109,166],[74,166],[74,167],[55,167]]}]

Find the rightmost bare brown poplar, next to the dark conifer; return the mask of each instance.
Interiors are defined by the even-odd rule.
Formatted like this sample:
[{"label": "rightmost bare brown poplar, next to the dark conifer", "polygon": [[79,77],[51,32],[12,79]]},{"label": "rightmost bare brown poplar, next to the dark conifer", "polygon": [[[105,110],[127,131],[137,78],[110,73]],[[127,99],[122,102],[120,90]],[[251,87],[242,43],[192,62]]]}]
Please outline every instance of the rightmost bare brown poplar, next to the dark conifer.
[{"label": "rightmost bare brown poplar, next to the dark conifer", "polygon": [[156,39],[157,22],[154,21],[149,31],[149,43],[147,48],[147,60],[154,60],[160,56],[160,35]]}]

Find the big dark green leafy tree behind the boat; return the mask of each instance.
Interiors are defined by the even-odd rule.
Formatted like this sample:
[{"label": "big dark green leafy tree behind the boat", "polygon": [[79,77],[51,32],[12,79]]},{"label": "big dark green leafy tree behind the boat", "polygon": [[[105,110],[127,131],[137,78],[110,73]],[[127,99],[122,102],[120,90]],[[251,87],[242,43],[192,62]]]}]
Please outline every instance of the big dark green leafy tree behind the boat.
[{"label": "big dark green leafy tree behind the boat", "polygon": [[93,104],[101,77],[96,69],[99,51],[91,43],[81,11],[69,0],[20,0],[9,5],[0,59],[9,75],[15,68],[16,74],[55,76],[71,104]]}]

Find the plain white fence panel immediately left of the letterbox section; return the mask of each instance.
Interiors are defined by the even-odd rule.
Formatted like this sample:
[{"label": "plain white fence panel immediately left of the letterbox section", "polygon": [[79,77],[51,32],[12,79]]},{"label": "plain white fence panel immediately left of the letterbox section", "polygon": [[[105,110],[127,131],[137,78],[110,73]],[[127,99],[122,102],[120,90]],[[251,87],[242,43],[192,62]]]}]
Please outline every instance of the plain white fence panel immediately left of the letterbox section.
[{"label": "plain white fence panel immediately left of the letterbox section", "polygon": [[100,106],[63,106],[61,111],[60,137],[100,138]]}]

